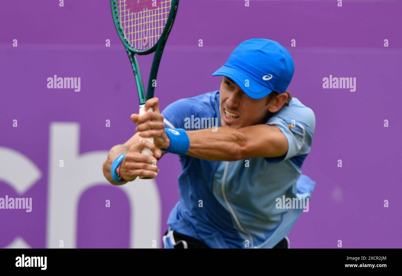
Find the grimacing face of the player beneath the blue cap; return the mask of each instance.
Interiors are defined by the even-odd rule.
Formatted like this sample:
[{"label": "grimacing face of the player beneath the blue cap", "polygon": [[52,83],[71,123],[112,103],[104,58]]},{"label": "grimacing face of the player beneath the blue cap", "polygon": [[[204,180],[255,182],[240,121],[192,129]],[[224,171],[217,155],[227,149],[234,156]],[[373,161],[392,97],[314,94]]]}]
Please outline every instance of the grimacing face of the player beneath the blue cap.
[{"label": "grimacing face of the player beneath the blue cap", "polygon": [[222,126],[243,128],[263,124],[269,115],[268,96],[252,99],[228,77],[223,77],[219,93]]}]

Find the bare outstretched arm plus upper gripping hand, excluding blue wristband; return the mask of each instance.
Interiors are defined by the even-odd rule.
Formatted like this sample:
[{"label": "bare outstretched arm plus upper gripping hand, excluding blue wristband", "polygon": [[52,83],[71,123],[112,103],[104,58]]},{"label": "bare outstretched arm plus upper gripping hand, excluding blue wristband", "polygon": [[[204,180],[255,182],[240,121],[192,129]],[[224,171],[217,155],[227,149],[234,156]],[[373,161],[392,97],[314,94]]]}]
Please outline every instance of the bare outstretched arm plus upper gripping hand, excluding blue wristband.
[{"label": "bare outstretched arm plus upper gripping hand, excluding blue wristband", "polygon": [[[146,108],[159,110],[157,98],[149,99]],[[154,137],[158,148],[168,149],[169,137],[165,131],[163,116],[158,112],[146,112],[142,116],[131,115],[137,124],[136,130],[144,138]],[[186,131],[190,148],[187,155],[213,160],[234,161],[254,157],[277,157],[287,153],[288,141],[281,130],[274,125],[258,124],[236,129],[230,127]]]}]

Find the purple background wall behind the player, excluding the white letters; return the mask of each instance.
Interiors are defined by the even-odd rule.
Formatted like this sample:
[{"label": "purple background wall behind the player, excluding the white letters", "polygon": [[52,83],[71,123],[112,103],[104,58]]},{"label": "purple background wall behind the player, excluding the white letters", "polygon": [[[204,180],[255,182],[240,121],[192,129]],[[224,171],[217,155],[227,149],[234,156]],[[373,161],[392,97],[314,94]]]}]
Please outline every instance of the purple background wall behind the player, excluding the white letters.
[{"label": "purple background wall behind the player, excluding the white letters", "polygon": [[[61,8],[50,0],[2,1],[0,146],[30,158],[42,178],[18,194],[0,176],[0,197],[33,198],[31,213],[0,210],[0,248],[16,236],[31,247],[46,247],[50,122],[79,122],[80,153],[109,150],[133,135],[135,82],[109,1],[64,2]],[[402,247],[401,13],[400,1],[344,1],[343,7],[336,1],[250,0],[250,7],[234,0],[180,2],[158,75],[162,108],[218,89],[219,78],[211,73],[246,39],[278,41],[293,56],[288,90],[316,114],[312,151],[302,169],[317,185],[310,211],[289,235],[292,248],[336,248],[338,239],[344,248]],[[290,47],[292,39],[296,47]],[[150,59],[139,62],[147,77]],[[47,77],[55,74],[81,77],[81,91],[47,89]],[[323,89],[322,78],[330,74],[356,77],[356,91]],[[0,166],[5,162],[0,156]],[[164,156],[159,167],[163,233],[178,201],[178,157]],[[94,207],[103,195],[118,202],[114,208]],[[128,204],[119,187],[88,189],[80,199],[76,246],[129,247]]]}]

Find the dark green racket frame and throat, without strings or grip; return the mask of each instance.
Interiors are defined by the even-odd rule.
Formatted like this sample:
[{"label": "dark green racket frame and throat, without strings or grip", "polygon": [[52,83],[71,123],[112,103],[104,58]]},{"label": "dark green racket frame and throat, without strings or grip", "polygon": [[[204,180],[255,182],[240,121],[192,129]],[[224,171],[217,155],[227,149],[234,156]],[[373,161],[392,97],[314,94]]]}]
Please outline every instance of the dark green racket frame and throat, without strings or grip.
[{"label": "dark green racket frame and throat, without strings or grip", "polygon": [[[179,2],[179,0],[172,0],[171,6],[170,6],[170,11],[169,11],[169,16],[168,16],[168,19],[166,20],[166,25],[163,29],[162,35],[160,36],[158,42],[154,46],[152,46],[150,49],[147,49],[144,51],[138,51],[138,50],[134,49],[133,47],[131,47],[130,43],[127,41],[127,39],[124,36],[123,30],[121,29],[119,11],[117,9],[117,0],[110,0],[113,21],[115,22],[115,27],[116,27],[117,33],[119,34],[121,41],[123,41],[124,47],[127,51],[127,54],[129,56],[129,59],[131,62],[131,66],[133,67],[135,82],[137,83],[137,91],[138,91],[140,105],[145,104],[145,102],[148,99],[154,97],[155,87],[152,85],[152,81],[154,79],[156,80],[156,76],[158,75],[158,69],[159,69],[160,60],[162,58],[163,49],[166,45],[166,41],[168,39],[170,30],[172,29],[174,18],[176,18],[178,2]],[[135,57],[135,54],[148,55],[153,52],[155,52],[155,55],[154,55],[154,60],[152,61],[150,78],[148,80],[147,93],[145,94],[144,83],[142,81],[141,72],[139,71],[139,65],[138,65],[137,58]]]}]

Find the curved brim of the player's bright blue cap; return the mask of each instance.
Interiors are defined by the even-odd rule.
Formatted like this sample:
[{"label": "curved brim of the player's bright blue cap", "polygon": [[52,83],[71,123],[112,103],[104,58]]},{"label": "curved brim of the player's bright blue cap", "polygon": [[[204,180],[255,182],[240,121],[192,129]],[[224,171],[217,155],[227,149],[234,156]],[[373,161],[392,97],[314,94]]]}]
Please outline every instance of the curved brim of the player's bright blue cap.
[{"label": "curved brim of the player's bright blue cap", "polygon": [[[232,81],[234,81],[243,90],[243,92],[252,99],[261,99],[273,91],[272,89],[267,88],[266,86],[255,81],[243,71],[226,65],[217,69],[212,75],[225,76],[232,79]],[[245,86],[246,79],[248,80],[248,87]]]}]

